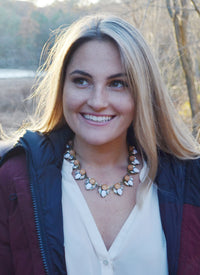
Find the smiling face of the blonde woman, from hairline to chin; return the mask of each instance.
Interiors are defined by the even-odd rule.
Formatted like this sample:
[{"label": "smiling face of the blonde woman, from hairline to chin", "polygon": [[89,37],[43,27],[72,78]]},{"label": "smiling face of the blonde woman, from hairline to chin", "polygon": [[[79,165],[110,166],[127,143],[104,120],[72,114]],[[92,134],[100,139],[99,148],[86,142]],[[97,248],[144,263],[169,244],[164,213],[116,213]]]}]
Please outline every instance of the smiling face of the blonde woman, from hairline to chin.
[{"label": "smiling face of the blonde woman, from hairline to chin", "polygon": [[63,109],[75,139],[91,145],[126,142],[134,102],[113,43],[89,41],[75,51],[67,67]]}]

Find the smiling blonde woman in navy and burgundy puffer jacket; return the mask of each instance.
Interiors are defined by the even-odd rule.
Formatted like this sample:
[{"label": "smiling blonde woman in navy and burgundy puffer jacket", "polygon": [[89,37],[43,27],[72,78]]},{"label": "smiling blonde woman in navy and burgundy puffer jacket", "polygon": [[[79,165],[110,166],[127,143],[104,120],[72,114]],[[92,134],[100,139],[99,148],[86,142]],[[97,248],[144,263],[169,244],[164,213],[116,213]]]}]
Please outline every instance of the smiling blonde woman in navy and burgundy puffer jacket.
[{"label": "smiling blonde woman in navy and burgundy puffer jacket", "polygon": [[32,131],[1,160],[2,274],[200,274],[200,159],[141,34],[57,38]]}]

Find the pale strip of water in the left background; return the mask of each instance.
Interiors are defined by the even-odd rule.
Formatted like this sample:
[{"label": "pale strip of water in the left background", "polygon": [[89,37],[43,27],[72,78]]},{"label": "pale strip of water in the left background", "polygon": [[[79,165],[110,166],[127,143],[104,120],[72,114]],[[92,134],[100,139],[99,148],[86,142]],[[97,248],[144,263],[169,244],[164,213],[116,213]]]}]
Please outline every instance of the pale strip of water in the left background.
[{"label": "pale strip of water in the left background", "polygon": [[35,77],[35,72],[31,70],[0,69],[0,79]]}]

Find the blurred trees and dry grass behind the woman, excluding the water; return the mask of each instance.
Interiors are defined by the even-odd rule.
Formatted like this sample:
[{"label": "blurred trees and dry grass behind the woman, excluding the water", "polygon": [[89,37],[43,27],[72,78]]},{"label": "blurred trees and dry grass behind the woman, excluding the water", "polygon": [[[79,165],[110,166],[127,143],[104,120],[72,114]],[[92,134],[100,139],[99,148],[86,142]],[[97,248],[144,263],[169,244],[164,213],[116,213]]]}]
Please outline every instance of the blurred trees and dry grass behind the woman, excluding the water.
[{"label": "blurred trees and dry grass behind the woman, excluding the water", "polygon": [[[119,15],[149,43],[179,114],[200,141],[200,0],[0,0],[0,69],[36,71],[49,38],[83,15]],[[0,123],[17,129],[32,112],[33,77],[0,78]]]}]

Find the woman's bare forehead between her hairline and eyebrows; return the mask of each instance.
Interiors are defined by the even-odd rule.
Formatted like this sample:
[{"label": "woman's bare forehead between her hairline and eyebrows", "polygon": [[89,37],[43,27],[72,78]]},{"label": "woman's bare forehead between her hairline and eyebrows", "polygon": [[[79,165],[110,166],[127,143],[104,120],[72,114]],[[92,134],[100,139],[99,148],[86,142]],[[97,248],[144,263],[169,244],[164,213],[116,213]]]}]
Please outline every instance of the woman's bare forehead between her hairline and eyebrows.
[{"label": "woman's bare forehead between her hairline and eyebrows", "polygon": [[111,41],[92,40],[84,42],[73,53],[67,66],[71,69],[102,68],[121,71],[121,57],[117,46]]}]

